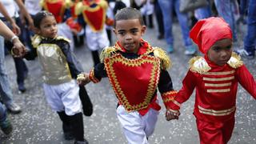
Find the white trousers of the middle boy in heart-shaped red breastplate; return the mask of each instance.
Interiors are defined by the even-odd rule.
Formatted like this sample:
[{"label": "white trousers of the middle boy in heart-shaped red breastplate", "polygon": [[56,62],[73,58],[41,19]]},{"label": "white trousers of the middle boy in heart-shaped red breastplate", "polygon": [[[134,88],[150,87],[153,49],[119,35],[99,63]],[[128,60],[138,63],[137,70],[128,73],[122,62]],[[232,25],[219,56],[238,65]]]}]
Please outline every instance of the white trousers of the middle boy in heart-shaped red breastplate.
[{"label": "white trousers of the middle boy in heart-shaped red breastplate", "polygon": [[144,116],[138,111],[128,113],[122,105],[117,109],[118,120],[130,144],[149,143],[147,138],[154,132],[158,114],[158,110],[153,109],[150,109]]}]

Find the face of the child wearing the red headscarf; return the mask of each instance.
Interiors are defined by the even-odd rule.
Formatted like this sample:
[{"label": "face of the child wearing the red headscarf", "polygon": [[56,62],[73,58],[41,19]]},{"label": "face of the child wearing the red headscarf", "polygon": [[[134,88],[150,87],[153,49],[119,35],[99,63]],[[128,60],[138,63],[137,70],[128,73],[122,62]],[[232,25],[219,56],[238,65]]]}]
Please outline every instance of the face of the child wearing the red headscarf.
[{"label": "face of the child wearing the red headscarf", "polygon": [[232,51],[232,39],[224,38],[215,42],[207,54],[211,62],[223,66],[230,60]]}]

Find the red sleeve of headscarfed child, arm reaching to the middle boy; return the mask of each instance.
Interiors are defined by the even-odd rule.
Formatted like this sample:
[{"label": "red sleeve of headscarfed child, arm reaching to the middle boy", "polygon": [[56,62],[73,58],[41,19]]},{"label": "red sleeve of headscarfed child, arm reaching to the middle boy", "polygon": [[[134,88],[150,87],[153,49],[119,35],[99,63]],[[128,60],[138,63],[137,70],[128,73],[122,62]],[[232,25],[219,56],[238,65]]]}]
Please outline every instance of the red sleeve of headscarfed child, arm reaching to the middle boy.
[{"label": "red sleeve of headscarfed child, arm reaching to the middle boy", "polygon": [[194,87],[196,86],[196,76],[192,71],[188,71],[186,77],[182,81],[182,89],[178,91],[174,100],[170,103],[170,109],[179,110],[183,102],[186,102],[193,93]]}]

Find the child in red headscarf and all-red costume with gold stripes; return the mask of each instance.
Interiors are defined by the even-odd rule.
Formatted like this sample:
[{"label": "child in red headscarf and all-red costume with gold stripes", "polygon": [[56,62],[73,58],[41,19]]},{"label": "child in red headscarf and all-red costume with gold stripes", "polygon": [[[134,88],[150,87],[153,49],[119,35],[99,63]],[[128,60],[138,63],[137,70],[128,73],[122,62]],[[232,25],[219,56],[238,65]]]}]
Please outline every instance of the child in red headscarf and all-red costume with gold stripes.
[{"label": "child in red headscarf and all-red costume with gold stripes", "polygon": [[190,38],[204,57],[190,60],[190,70],[166,119],[178,119],[181,104],[196,88],[194,116],[200,143],[227,143],[234,129],[238,82],[256,98],[254,77],[233,53],[230,26],[222,18],[200,20],[190,31]]}]

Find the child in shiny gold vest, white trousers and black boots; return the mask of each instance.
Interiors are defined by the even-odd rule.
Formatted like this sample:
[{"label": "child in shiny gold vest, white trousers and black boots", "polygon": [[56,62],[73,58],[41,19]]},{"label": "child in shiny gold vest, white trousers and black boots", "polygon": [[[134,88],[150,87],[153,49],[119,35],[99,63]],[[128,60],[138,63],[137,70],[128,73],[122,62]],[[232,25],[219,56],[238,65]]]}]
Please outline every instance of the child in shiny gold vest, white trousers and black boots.
[{"label": "child in shiny gold vest, white trousers and black boots", "polygon": [[34,16],[34,26],[34,48],[25,58],[39,58],[46,101],[62,120],[64,137],[67,140],[74,138],[74,143],[88,143],[84,138],[79,87],[74,80],[82,72],[82,66],[70,50],[69,40],[57,35],[53,14],[38,12]]}]

